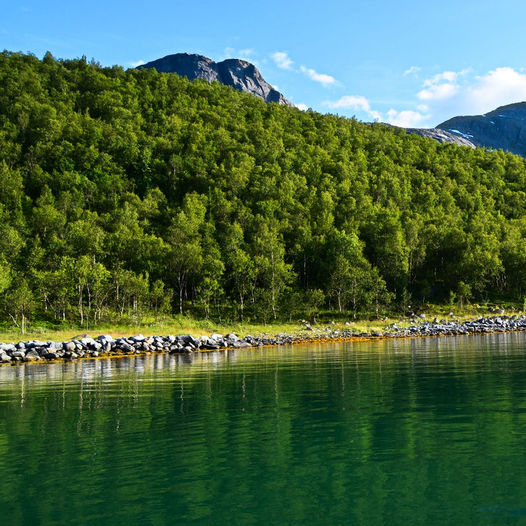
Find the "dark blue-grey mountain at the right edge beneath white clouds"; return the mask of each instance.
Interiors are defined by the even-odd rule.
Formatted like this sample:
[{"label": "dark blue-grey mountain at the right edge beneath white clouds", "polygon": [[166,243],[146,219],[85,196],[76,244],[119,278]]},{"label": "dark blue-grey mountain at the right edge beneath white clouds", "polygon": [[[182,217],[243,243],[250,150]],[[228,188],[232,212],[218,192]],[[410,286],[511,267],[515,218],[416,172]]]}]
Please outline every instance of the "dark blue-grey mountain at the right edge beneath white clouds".
[{"label": "dark blue-grey mountain at the right edge beneath white clouds", "polygon": [[436,128],[477,146],[526,156],[526,102],[501,106],[485,115],[453,117]]}]

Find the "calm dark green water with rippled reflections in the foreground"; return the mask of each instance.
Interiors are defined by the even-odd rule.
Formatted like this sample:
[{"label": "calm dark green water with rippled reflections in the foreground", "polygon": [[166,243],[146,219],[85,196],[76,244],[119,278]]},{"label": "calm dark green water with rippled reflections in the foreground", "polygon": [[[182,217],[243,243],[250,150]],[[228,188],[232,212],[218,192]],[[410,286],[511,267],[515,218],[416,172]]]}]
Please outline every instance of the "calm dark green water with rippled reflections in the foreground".
[{"label": "calm dark green water with rippled reflections in the foreground", "polygon": [[526,524],[519,334],[0,368],[0,524]]}]

